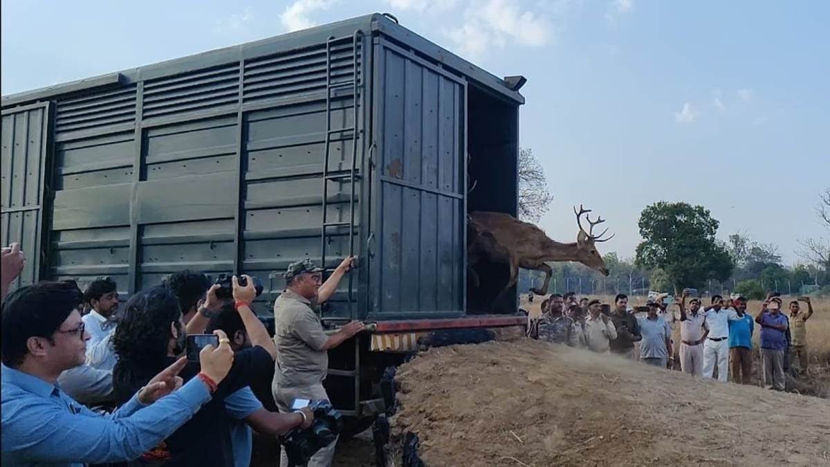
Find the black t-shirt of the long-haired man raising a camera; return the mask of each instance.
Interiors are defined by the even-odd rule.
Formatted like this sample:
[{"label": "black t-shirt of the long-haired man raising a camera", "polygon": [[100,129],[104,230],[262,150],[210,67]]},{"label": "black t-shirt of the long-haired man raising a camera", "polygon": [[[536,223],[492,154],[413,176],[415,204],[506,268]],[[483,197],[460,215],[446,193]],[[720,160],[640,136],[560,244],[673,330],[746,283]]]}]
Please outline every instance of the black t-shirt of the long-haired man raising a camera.
[{"label": "black t-shirt of the long-haired man raising a camera", "polygon": [[[173,361],[176,359],[169,357],[165,367],[172,365]],[[118,404],[129,401],[136,391],[163,369],[164,367],[144,370],[119,361],[113,370],[113,386]],[[233,450],[225,397],[251,385],[251,381],[268,371],[274,371],[274,360],[264,348],[256,346],[235,352],[231,370],[219,383],[211,401],[134,465],[232,467]],[[187,382],[198,375],[198,372],[198,363],[188,362],[179,376]]]}]

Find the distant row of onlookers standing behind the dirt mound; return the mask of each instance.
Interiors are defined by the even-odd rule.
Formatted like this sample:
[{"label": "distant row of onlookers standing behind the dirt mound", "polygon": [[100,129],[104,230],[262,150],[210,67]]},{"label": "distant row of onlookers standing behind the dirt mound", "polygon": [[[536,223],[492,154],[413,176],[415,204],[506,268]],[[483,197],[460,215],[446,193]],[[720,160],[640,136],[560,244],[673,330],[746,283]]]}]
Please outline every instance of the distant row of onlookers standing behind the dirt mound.
[{"label": "distant row of onlookers standing behind the dirt mound", "polygon": [[[529,337],[546,342],[583,347],[598,353],[623,356],[647,365],[676,368],[693,376],[706,376],[741,384],[754,384],[752,337],[760,328],[761,382],[784,391],[784,372],[803,375],[808,367],[807,328],[813,315],[809,297],[784,302],[770,293],[754,316],[740,295],[715,295],[704,306],[701,298],[684,291],[666,305],[667,294],[651,297],[643,307],[630,307],[628,297],[614,297],[613,309],[597,298],[573,292],[554,293],[541,303],[541,314],[529,317]],[[801,303],[807,311],[801,309]],[[676,307],[676,308],[675,308]],[[679,342],[675,342],[679,327]],[[792,365],[791,365],[792,363]]]}]

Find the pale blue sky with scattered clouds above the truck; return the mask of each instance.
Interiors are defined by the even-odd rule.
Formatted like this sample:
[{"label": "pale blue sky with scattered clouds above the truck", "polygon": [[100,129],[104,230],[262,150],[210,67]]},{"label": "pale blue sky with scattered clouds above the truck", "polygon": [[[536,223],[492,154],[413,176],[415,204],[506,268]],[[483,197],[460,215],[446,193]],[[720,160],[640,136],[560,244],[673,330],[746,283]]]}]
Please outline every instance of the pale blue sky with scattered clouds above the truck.
[{"label": "pale blue sky with scattered clouds above the truck", "polygon": [[[657,0],[2,1],[2,94],[355,17],[401,24],[496,76],[524,75],[520,141],[554,194],[540,226],[573,241],[584,204],[632,257],[648,204],[710,209],[800,260],[826,235],[830,2]],[[41,32],[48,32],[43,34]],[[605,253],[605,251],[603,251]]]}]

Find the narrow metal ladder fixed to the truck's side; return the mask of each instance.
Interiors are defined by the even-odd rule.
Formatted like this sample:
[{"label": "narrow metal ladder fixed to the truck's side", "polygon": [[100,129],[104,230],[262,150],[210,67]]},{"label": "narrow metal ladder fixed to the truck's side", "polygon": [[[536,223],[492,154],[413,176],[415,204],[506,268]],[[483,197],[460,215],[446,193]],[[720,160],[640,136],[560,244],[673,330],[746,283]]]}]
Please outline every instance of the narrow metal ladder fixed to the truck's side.
[{"label": "narrow metal ladder fixed to the truck's side", "polygon": [[[323,156],[323,219],[322,219],[322,229],[320,235],[320,263],[323,268],[326,268],[326,246],[328,244],[328,239],[330,237],[329,229],[338,229],[340,227],[348,227],[349,228],[349,256],[354,256],[354,195],[356,189],[356,183],[360,179],[360,175],[357,173],[357,160],[358,160],[358,137],[360,134],[363,133],[363,130],[358,129],[359,125],[359,96],[362,94],[363,90],[363,81],[360,80],[359,76],[359,61],[358,61],[358,52],[361,47],[361,37],[363,36],[363,32],[355,31],[352,36],[347,37],[329,37],[329,39],[325,43],[325,150]],[[331,52],[332,46],[341,42],[347,42],[349,39],[352,41],[352,65],[354,66],[354,74],[350,81],[341,81],[339,83],[333,84],[331,82]],[[352,88],[352,111],[353,111],[353,118],[352,118],[352,126],[345,127],[345,128],[332,128],[331,127],[331,101],[332,101],[332,94],[335,90],[338,89],[345,89],[351,87]],[[344,137],[344,134],[351,134],[351,137]],[[349,172],[337,173],[331,175],[329,173],[329,160],[330,160],[330,146],[331,146],[331,139],[332,135],[339,134],[339,141],[344,140],[351,140],[352,141],[352,160],[349,168]],[[337,222],[328,222],[328,214],[329,214],[329,183],[330,182],[349,182],[349,221],[337,221]],[[342,218],[341,218],[342,219]],[[353,289],[354,289],[354,268],[349,269],[349,320],[354,320],[354,297],[353,297]],[[359,366],[360,366],[360,345],[359,345],[359,337],[354,338],[354,370],[338,370],[338,369],[329,369],[329,375],[331,376],[344,376],[354,378],[354,411],[350,410],[340,410],[343,415],[360,415],[360,373],[359,373]]]}]

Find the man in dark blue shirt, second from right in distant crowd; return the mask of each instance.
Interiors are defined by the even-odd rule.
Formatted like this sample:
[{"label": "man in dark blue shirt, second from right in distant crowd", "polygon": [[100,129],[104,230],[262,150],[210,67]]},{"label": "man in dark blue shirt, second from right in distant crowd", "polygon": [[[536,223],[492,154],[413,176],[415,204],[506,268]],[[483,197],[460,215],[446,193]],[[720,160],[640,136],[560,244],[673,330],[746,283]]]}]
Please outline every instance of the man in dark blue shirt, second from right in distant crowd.
[{"label": "man in dark blue shirt, second from right in distant crowd", "polygon": [[787,350],[788,321],[781,312],[781,299],[767,297],[758,316],[761,327],[761,364],[764,366],[764,387],[784,391],[784,352]]}]

